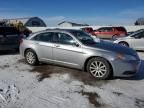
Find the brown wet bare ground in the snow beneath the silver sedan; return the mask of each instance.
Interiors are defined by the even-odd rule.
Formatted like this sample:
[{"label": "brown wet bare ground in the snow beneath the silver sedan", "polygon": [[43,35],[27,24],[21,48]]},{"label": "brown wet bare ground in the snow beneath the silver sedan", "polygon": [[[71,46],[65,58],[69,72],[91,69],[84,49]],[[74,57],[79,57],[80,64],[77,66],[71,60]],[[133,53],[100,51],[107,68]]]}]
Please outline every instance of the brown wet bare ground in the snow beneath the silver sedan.
[{"label": "brown wet bare ground in the snow beneath the silver sedan", "polygon": [[50,78],[52,74],[70,74],[72,79],[82,81],[86,85],[101,86],[108,83],[107,80],[96,80],[92,75],[81,70],[65,68],[61,66],[46,65],[42,64],[39,66],[34,66],[31,72],[38,72],[38,81],[43,81],[45,78]]}]

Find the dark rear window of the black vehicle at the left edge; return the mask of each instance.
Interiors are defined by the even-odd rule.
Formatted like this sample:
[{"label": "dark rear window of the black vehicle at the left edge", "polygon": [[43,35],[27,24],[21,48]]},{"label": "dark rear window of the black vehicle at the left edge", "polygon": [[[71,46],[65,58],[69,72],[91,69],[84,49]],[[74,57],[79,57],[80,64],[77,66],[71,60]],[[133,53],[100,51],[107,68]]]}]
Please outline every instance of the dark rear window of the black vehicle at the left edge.
[{"label": "dark rear window of the black vehicle at the left edge", "polygon": [[0,34],[14,35],[19,34],[19,31],[14,27],[0,27]]}]

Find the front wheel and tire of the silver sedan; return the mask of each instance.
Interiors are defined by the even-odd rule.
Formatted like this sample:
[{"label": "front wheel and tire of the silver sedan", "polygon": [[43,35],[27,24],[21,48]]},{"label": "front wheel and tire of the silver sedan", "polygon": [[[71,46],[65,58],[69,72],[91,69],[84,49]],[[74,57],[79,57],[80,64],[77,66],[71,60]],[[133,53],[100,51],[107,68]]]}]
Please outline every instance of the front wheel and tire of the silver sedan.
[{"label": "front wheel and tire of the silver sedan", "polygon": [[[96,67],[94,67],[95,69],[93,69],[92,66],[93,66],[93,63],[95,63],[95,62],[97,62],[97,64],[99,63],[99,65],[100,65],[100,63],[102,63],[101,68],[99,66],[99,69],[96,69]],[[103,69],[102,69],[102,67],[103,67]],[[111,66],[109,65],[107,60],[100,58],[100,57],[95,57],[95,58],[90,59],[87,63],[86,69],[87,69],[87,72],[89,72],[97,80],[106,80],[106,79],[109,79],[112,75],[111,74],[112,73]],[[94,70],[95,70],[95,73],[93,72]],[[102,75],[102,73],[103,73],[103,75]],[[101,76],[98,76],[98,74]]]}]

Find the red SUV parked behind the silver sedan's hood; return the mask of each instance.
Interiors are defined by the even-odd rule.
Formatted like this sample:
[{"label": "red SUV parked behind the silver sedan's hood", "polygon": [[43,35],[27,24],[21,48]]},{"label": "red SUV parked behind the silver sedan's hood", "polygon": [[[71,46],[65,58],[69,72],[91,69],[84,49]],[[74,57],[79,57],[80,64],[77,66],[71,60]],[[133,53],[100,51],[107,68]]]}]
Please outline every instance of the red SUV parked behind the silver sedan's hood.
[{"label": "red SUV parked behind the silver sedan's hood", "polygon": [[127,31],[124,27],[101,27],[94,30],[92,34],[99,38],[111,39],[119,36],[125,36]]}]

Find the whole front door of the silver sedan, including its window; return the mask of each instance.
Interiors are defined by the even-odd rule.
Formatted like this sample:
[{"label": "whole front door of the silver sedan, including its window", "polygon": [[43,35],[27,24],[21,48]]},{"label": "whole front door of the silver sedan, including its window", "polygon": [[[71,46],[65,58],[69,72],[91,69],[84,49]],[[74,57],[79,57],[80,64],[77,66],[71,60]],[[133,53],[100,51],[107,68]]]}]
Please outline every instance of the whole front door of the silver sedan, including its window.
[{"label": "whole front door of the silver sedan, including its window", "polygon": [[56,33],[56,43],[53,47],[54,60],[59,64],[80,67],[83,57],[82,48],[75,46],[76,41],[68,34]]}]

